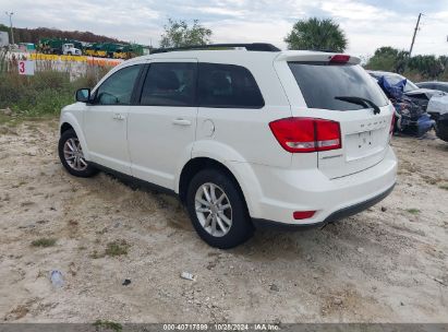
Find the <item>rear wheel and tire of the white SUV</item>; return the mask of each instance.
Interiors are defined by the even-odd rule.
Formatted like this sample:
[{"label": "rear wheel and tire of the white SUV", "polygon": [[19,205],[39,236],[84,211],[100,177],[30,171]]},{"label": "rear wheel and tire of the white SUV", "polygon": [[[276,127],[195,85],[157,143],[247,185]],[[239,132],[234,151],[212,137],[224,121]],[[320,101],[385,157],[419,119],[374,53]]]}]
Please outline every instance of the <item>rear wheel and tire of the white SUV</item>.
[{"label": "rear wheel and tire of the white SUV", "polygon": [[[206,199],[204,186],[210,200]],[[215,197],[211,197],[213,190]],[[221,201],[216,204],[209,203],[219,199]],[[228,204],[230,208],[225,209]],[[230,249],[245,242],[254,233],[243,193],[238,183],[223,171],[204,169],[197,173],[189,185],[186,209],[197,234],[211,247]]]}]

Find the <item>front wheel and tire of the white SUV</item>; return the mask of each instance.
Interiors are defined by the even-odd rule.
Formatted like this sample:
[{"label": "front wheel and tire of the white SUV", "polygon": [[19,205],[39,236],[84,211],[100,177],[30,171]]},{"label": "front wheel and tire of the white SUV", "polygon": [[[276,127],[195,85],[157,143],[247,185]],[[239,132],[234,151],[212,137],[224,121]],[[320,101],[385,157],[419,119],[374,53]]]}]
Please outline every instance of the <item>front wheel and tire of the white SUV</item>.
[{"label": "front wheel and tire of the white SUV", "polygon": [[80,141],[73,129],[61,134],[58,144],[59,158],[65,169],[75,177],[88,178],[98,170],[84,158]]}]

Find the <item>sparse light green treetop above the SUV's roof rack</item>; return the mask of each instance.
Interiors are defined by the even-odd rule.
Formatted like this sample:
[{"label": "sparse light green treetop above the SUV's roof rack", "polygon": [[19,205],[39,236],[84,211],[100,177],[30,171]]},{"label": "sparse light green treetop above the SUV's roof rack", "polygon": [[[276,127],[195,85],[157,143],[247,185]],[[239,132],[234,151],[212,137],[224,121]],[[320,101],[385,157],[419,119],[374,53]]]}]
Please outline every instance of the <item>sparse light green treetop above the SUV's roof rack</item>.
[{"label": "sparse light green treetop above the SUV's roof rack", "polygon": [[202,26],[199,21],[194,20],[193,25],[183,20],[168,19],[168,24],[164,26],[160,47],[183,47],[195,45],[207,45],[210,43],[211,29]]}]

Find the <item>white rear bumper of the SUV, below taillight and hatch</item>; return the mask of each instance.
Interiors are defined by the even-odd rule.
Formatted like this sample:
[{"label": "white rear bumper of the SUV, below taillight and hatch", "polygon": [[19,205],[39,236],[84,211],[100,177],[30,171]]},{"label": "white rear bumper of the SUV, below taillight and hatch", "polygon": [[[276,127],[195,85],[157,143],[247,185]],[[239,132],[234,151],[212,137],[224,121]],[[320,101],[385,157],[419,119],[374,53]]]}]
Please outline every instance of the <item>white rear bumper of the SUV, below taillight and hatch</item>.
[{"label": "white rear bumper of the SUV, below taillight and hatch", "polygon": [[[396,182],[397,158],[389,146],[378,164],[336,179],[317,168],[252,165],[252,170],[256,182],[250,183],[252,192],[245,198],[255,224],[271,221],[286,226],[315,227],[358,213],[384,199]],[[311,218],[294,220],[294,211],[316,212]]]}]

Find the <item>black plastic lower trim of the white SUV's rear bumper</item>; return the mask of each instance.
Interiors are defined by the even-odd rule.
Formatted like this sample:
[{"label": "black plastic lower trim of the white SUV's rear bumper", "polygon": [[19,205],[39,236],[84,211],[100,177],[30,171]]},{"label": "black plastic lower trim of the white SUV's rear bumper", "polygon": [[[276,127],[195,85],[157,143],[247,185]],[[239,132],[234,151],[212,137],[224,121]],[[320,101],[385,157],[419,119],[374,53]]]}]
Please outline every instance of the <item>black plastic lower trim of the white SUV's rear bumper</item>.
[{"label": "black plastic lower trim of the white SUV's rear bumper", "polygon": [[360,213],[364,210],[367,210],[368,208],[375,205],[376,203],[383,201],[386,197],[389,195],[390,192],[392,192],[395,187],[395,183],[387,189],[385,192],[382,192],[380,194],[368,199],[364,202],[356,203],[351,206],[347,206],[343,209],[340,209],[334,213],[331,213],[329,216],[327,216],[323,222],[320,223],[315,223],[315,224],[284,224],[284,223],[278,223],[274,221],[267,221],[267,220],[261,220],[261,218],[252,218],[253,224],[257,228],[276,228],[276,229],[310,229],[310,228],[316,228],[316,227],[322,227],[327,224],[332,224],[337,221],[340,221],[342,218],[346,218],[348,216],[351,216],[353,214]]}]

